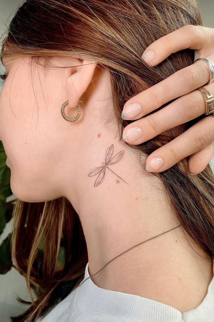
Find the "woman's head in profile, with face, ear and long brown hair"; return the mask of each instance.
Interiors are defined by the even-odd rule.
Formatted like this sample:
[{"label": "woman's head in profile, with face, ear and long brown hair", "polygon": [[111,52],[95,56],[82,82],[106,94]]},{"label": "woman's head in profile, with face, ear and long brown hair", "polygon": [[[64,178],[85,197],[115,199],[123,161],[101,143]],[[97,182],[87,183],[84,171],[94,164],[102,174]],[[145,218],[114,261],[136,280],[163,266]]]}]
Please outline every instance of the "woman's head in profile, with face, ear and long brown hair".
[{"label": "woman's head in profile, with face, ear and long brown hair", "polygon": [[[14,16],[1,55],[9,75],[0,96],[0,137],[10,159],[12,190],[22,200],[13,214],[13,259],[29,288],[31,282],[45,289],[28,310],[28,321],[56,300],[57,288],[65,281],[73,282],[69,292],[83,278],[84,235],[77,213],[63,196],[87,157],[85,150],[100,126],[101,131],[107,125],[111,135],[122,140],[130,122],[121,119],[125,102],[193,62],[188,50],[154,68],[141,59],[150,43],[186,24],[201,24],[194,0],[28,0]],[[60,114],[68,99],[69,117],[76,115],[78,103],[82,108],[74,123]],[[141,156],[180,135],[190,123],[128,146],[140,152],[142,165]],[[210,166],[189,176],[184,159],[154,175],[162,179],[186,231],[212,256]],[[76,191],[70,189],[75,202]],[[65,264],[56,272],[61,237]]]}]

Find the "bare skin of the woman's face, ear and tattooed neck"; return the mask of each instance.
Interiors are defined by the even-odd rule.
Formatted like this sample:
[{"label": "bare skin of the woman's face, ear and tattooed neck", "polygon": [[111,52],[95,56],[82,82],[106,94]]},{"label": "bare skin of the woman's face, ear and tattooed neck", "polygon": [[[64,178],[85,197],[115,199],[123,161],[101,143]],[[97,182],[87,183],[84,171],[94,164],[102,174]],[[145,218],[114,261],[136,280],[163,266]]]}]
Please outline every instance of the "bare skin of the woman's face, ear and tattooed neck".
[{"label": "bare skin of the woman's face, ear and tattooed neck", "polygon": [[[107,71],[78,58],[53,57],[51,62],[65,68],[44,73],[32,67],[31,79],[29,58],[4,61],[8,77],[0,94],[0,139],[17,198],[43,202],[65,196],[72,203],[81,219],[92,275],[131,246],[180,223],[162,182],[142,169],[133,148],[119,141]],[[74,123],[60,114],[67,99],[68,117],[77,114],[78,102],[82,108]],[[106,169],[103,182],[94,186],[96,176],[88,174],[102,166],[111,145],[113,156],[124,150],[109,168],[125,182]],[[207,293],[213,269],[189,242],[179,227],[128,251],[92,281],[181,312],[195,308]]]}]

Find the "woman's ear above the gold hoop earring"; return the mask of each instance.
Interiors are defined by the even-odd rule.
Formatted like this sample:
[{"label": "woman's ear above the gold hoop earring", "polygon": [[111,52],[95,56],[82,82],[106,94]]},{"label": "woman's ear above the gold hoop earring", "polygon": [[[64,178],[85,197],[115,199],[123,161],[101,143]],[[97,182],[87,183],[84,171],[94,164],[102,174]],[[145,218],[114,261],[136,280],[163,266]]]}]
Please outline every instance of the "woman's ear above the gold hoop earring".
[{"label": "woman's ear above the gold hoop earring", "polygon": [[76,67],[75,70],[72,69],[72,74],[66,80],[68,97],[65,98],[65,100],[69,100],[69,104],[66,107],[66,115],[68,116],[73,113],[74,108],[76,109],[81,96],[91,83],[95,68],[97,66],[97,63],[91,60],[79,59],[78,61],[79,66]]}]

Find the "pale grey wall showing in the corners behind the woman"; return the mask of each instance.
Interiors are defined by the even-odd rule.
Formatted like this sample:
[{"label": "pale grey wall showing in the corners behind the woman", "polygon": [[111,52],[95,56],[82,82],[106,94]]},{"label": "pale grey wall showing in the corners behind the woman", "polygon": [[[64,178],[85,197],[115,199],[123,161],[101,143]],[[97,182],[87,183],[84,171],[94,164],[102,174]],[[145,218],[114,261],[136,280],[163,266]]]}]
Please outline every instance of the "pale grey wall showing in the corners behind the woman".
[{"label": "pale grey wall showing in the corners behind the woman", "polygon": [[[16,9],[23,2],[23,0],[0,0],[0,36],[5,31],[5,24],[8,25]],[[207,27],[214,27],[214,0],[201,0],[198,2],[202,13],[203,24]],[[212,163],[213,162],[214,159],[212,159]],[[0,237],[0,244],[11,231],[11,224],[11,222],[7,224]],[[9,322],[10,315],[18,315],[29,307],[23,307],[21,304],[18,304],[16,301],[17,295],[25,300],[29,300],[25,279],[15,269],[11,269],[7,274],[0,275],[1,322]]]}]

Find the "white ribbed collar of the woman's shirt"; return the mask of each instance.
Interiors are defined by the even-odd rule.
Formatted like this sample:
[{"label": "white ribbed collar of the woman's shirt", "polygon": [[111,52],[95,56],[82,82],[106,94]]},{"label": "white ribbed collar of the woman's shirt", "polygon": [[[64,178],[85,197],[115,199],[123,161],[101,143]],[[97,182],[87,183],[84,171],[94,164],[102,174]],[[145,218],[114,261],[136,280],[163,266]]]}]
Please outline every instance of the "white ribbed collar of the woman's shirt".
[{"label": "white ribbed collar of the woman's shirt", "polygon": [[[88,267],[89,262],[85,268],[84,279],[89,277]],[[211,317],[214,312],[214,277],[202,303],[183,314],[167,304],[149,298],[99,288],[90,278],[77,289],[76,308],[83,316],[89,319],[93,317],[93,321],[189,322],[194,314],[195,322],[205,321],[205,315]]]}]

